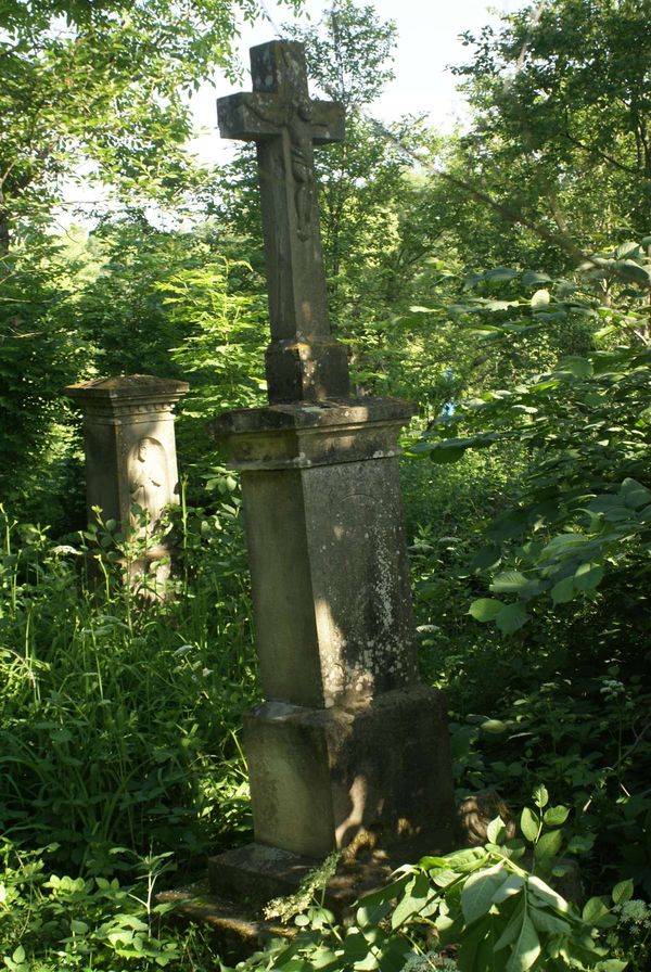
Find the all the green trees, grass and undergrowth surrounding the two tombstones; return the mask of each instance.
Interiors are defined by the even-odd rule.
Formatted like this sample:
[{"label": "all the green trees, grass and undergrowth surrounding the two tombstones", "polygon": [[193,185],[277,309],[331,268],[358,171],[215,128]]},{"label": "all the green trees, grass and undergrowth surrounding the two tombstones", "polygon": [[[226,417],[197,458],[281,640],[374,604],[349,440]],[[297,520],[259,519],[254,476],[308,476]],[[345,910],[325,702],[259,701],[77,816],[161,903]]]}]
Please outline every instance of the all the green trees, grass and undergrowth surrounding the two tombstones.
[{"label": "all the green trees, grass and undergrowth surrounding the two tombstones", "polygon": [[[257,190],[246,150],[220,170],[188,157],[181,97],[228,62],[237,9],[255,4],[0,4],[12,972],[219,967],[207,933],[176,928],[155,892],[251,826],[239,486],[205,423],[264,400]],[[649,968],[647,14],[549,0],[467,37],[472,118],[448,138],[370,116],[395,40],[372,9],[336,0],[289,31],[308,44],[312,88],[349,114],[348,141],[318,159],[335,330],[360,394],[421,407],[403,484],[422,676],[447,691],[459,797],[498,790],[520,833],[496,818],[485,847],[405,868],[347,929],[317,875],[279,912],[296,937],[251,972]],[[56,234],[63,182],[89,184],[89,166],[114,208]],[[152,201],[183,228],[154,227]],[[138,541],[85,523],[63,397],[130,372],[192,385],[163,603],[123,583]]]}]

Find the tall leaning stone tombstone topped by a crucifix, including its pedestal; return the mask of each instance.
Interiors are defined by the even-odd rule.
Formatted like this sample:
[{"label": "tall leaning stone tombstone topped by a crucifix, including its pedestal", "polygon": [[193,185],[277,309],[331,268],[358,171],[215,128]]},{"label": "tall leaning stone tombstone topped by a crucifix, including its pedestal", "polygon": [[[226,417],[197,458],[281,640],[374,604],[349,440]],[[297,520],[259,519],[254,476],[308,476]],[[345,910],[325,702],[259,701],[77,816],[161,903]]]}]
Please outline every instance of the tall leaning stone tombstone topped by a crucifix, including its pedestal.
[{"label": "tall leaning stone tombstone topped by a crucifix, including its pedestal", "polygon": [[241,472],[265,702],[244,719],[255,842],[209,862],[213,891],[272,896],[332,850],[447,850],[455,806],[442,695],[419,683],[398,483],[416,408],[348,397],[328,320],[312,143],[343,108],[310,101],[303,47],[251,51],[254,91],[218,101],[257,145],[269,405],[214,423]]}]

